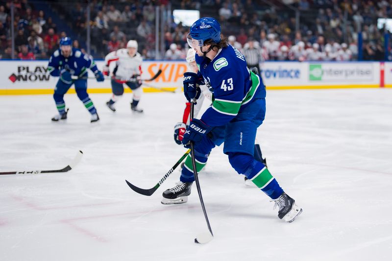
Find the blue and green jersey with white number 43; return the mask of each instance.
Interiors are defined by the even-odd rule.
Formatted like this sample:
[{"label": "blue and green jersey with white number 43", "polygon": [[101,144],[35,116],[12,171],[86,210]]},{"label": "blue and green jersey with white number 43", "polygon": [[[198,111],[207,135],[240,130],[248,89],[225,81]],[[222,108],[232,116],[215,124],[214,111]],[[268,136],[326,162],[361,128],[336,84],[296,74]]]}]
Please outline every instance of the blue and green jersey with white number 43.
[{"label": "blue and green jersey with white number 43", "polygon": [[250,101],[266,97],[261,77],[247,69],[244,55],[230,45],[212,61],[196,54],[196,63],[214,94],[212,106],[201,117],[210,126],[225,125]]}]

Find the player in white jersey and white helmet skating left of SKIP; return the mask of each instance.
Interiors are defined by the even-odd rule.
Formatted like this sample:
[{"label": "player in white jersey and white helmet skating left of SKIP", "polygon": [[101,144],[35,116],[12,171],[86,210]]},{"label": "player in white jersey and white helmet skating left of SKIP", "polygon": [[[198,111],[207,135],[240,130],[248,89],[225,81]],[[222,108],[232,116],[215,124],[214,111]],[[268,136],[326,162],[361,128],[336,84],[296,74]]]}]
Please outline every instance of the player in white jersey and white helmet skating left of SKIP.
[{"label": "player in white jersey and white helmet skating left of SKIP", "polygon": [[[143,112],[142,109],[137,107],[143,92],[141,88],[142,80],[140,77],[142,74],[143,58],[137,50],[138,43],[135,40],[129,40],[126,49],[122,48],[113,51],[105,57],[103,74],[109,75],[109,70],[114,68],[111,81],[113,95],[111,99],[106,102],[107,107],[113,112],[116,111],[114,104],[124,93],[123,84],[126,84],[133,92],[131,110],[139,113]],[[111,66],[111,64],[114,64],[114,66]]]}]

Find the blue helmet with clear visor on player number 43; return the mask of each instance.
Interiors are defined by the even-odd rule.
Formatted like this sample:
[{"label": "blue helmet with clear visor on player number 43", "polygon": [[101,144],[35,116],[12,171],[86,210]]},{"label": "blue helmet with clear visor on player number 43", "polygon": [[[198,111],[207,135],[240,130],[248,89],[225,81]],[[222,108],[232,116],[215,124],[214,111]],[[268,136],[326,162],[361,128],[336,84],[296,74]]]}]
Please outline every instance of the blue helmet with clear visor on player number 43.
[{"label": "blue helmet with clear visor on player number 43", "polygon": [[187,41],[191,48],[203,46],[206,40],[211,39],[214,43],[221,41],[221,24],[212,17],[203,17],[191,26]]}]

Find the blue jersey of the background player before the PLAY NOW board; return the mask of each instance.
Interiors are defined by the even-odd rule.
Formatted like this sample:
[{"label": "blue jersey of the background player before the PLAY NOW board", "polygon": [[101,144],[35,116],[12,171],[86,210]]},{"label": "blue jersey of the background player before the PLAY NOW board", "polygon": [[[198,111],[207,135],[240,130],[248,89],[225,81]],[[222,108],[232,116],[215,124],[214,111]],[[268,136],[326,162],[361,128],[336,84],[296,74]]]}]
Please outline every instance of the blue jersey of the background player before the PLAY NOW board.
[{"label": "blue jersey of the background player before the PLAY NOW board", "polygon": [[96,63],[80,49],[72,48],[69,57],[64,57],[61,49],[57,49],[49,59],[48,71],[52,76],[59,76],[60,71],[67,70],[71,75],[87,77],[87,69],[94,73],[98,71]]}]

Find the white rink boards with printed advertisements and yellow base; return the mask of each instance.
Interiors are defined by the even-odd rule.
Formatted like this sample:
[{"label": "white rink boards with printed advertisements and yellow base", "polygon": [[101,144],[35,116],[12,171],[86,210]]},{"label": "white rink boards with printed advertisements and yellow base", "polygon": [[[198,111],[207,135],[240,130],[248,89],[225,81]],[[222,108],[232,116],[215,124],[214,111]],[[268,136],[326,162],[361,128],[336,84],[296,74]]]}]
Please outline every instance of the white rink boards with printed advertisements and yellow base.
[{"label": "white rink boards with printed advertisements and yellow base", "polygon": [[[97,61],[99,69],[103,63]],[[260,68],[270,90],[392,87],[391,62],[264,62]],[[52,94],[58,81],[58,77],[49,75],[48,61],[0,61],[0,69],[0,95]],[[161,75],[149,85],[170,91],[182,88],[182,75],[188,70],[186,62],[146,61],[142,78],[152,77],[159,69]],[[89,93],[111,92],[109,80],[88,81]],[[159,92],[147,86],[143,89]],[[73,88],[70,92],[74,93]]]}]

